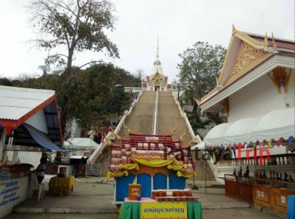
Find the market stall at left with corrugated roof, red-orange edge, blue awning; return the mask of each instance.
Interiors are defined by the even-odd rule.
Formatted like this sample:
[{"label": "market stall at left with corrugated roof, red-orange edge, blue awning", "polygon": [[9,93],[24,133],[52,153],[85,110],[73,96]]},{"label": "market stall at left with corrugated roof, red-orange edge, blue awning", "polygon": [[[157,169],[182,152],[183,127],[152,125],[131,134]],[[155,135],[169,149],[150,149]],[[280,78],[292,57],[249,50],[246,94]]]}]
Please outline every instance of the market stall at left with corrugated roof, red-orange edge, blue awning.
[{"label": "market stall at left with corrugated roof, red-orange edge, blue awning", "polygon": [[[54,90],[0,86],[0,218],[29,198],[30,170],[19,161],[19,152],[69,152],[61,148]],[[8,154],[13,154],[12,160]]]}]

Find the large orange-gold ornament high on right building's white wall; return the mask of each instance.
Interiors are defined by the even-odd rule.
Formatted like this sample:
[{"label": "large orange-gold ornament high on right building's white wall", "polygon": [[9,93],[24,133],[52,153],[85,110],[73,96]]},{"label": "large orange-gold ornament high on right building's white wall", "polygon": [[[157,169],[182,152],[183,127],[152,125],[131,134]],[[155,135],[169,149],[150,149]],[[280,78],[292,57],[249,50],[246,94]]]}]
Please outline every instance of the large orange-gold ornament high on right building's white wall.
[{"label": "large orange-gold ornament high on right building's white wall", "polygon": [[286,72],[285,67],[276,67],[274,70],[272,70],[273,74],[269,74],[269,77],[271,78],[271,81],[273,81],[274,85],[278,89],[278,92],[280,92],[280,87],[283,87],[285,90],[285,93],[288,92],[288,84],[290,81],[291,76],[291,69],[289,69],[289,74]]}]

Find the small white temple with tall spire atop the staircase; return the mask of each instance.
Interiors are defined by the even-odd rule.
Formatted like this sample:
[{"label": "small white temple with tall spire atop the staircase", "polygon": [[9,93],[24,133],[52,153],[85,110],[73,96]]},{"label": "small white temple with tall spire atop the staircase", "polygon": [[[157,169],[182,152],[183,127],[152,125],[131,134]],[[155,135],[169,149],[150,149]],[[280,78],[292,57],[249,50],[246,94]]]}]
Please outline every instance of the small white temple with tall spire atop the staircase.
[{"label": "small white temple with tall spire atop the staircase", "polygon": [[152,67],[152,74],[146,76],[145,82],[142,82],[142,88],[160,91],[167,91],[168,88],[171,88],[171,85],[168,84],[168,76],[164,76],[163,74],[161,61],[159,59],[159,35],[157,38],[157,55],[154,60],[154,66]]}]

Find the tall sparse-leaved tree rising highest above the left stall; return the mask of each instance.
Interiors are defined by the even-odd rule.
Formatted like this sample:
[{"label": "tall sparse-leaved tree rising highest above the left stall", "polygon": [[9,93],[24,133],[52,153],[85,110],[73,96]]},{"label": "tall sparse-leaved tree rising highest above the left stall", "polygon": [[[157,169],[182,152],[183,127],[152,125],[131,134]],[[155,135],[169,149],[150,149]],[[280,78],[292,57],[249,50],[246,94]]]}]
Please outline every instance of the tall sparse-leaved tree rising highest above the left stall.
[{"label": "tall sparse-leaved tree rising highest above the left stall", "polygon": [[[119,57],[117,47],[104,33],[107,29],[113,31],[115,24],[112,15],[115,8],[108,0],[31,0],[26,8],[31,14],[29,22],[38,33],[38,38],[31,42],[45,50],[56,47],[66,49],[65,54],[56,53],[45,60],[45,65],[57,63],[57,66],[65,67],[58,86],[61,89],[66,89],[63,88],[63,82],[74,72],[74,54],[85,50],[99,52],[106,49],[109,56]],[[63,132],[67,120],[71,119],[67,111],[68,101],[69,97],[63,96],[60,102]]]}]

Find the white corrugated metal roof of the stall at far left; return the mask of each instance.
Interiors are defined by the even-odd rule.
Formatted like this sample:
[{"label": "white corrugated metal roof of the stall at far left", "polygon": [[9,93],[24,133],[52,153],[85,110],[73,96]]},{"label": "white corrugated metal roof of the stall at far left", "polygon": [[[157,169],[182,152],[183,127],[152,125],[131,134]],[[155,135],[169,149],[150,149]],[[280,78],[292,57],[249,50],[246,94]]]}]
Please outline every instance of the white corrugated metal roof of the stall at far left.
[{"label": "white corrugated metal roof of the stall at far left", "polygon": [[54,95],[54,90],[0,86],[0,119],[18,120]]}]

